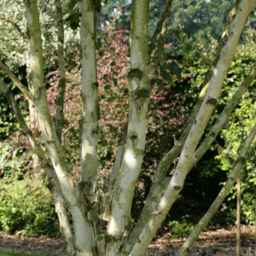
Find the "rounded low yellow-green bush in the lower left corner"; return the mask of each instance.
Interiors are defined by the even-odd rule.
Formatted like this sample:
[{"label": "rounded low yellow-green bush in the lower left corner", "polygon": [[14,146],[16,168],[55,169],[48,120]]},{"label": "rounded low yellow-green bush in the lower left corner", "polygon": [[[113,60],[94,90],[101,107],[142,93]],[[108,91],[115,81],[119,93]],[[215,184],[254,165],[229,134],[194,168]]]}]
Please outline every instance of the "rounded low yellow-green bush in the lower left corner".
[{"label": "rounded low yellow-green bush in the lower left corner", "polygon": [[20,231],[23,236],[60,235],[49,190],[42,183],[32,185],[28,178],[0,180],[0,225],[10,234]]}]

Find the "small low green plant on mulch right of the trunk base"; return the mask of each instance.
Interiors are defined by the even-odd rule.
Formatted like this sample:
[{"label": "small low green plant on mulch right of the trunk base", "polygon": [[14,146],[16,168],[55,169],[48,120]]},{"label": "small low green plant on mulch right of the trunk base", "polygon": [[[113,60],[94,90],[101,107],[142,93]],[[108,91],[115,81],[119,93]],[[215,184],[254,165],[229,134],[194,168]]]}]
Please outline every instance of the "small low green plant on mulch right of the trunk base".
[{"label": "small low green plant on mulch right of the trunk base", "polygon": [[181,221],[170,221],[168,226],[171,228],[172,238],[188,236],[194,229],[194,224],[187,222],[185,218],[183,218]]}]

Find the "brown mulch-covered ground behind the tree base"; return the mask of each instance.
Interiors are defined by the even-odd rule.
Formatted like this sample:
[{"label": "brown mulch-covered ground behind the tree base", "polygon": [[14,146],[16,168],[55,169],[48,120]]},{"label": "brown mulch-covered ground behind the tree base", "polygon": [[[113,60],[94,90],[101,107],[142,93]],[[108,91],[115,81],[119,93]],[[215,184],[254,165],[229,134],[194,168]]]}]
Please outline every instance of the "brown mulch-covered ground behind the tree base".
[{"label": "brown mulch-covered ground behind the tree base", "polygon": [[[256,256],[255,226],[241,226],[241,256]],[[175,256],[185,238],[171,239],[170,234],[156,237],[148,248],[147,256]],[[27,253],[56,253],[66,256],[64,243],[61,238],[27,238],[23,236],[9,236],[0,232],[0,248],[22,250]],[[209,229],[201,233],[189,251],[189,256],[235,256],[236,255],[236,227]]]}]

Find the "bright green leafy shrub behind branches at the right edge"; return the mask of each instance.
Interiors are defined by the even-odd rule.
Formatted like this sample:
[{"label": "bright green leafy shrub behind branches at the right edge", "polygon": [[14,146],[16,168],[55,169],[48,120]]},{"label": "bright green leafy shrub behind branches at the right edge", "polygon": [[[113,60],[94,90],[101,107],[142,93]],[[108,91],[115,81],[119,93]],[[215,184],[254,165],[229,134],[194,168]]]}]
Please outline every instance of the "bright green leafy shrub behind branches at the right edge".
[{"label": "bright green leafy shrub behind branches at the right edge", "polygon": [[[247,34],[253,34],[253,31],[249,30]],[[253,44],[255,44],[253,37],[248,36],[246,44],[237,49],[228,73],[228,78],[224,84],[220,104],[224,104],[224,102],[230,99],[230,96],[232,96],[237,86],[247,76],[256,56],[253,50]],[[254,82],[242,96],[241,102],[230,115],[230,119],[220,133],[224,145],[216,145],[218,149],[216,159],[219,160],[218,168],[226,171],[227,175],[229,175],[232,170],[232,166],[241,150],[242,143],[255,124],[255,96],[256,90]],[[249,224],[252,224],[255,220],[256,212],[256,175],[253,172],[256,162],[255,150],[256,143],[254,139],[247,153],[246,166],[241,171],[241,213]],[[229,200],[233,199],[236,199],[236,186],[230,191]]]}]

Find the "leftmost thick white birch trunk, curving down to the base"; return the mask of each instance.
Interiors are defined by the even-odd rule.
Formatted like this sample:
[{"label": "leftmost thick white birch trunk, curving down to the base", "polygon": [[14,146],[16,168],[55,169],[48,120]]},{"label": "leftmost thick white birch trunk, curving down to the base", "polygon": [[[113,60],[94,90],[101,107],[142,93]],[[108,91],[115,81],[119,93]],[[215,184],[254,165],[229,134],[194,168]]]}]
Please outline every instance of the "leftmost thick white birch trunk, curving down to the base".
[{"label": "leftmost thick white birch trunk, curving down to the base", "polygon": [[61,146],[56,136],[53,121],[49,113],[44,88],[44,67],[41,31],[39,25],[38,3],[36,0],[27,2],[26,20],[30,38],[30,60],[31,60],[31,88],[35,108],[38,111],[38,125],[44,137],[44,143],[49,153],[49,158],[55,169],[56,177],[65,196],[70,212],[73,217],[75,233],[75,247],[77,255],[91,255],[91,248],[95,246],[92,236],[90,222],[84,217],[79,206],[79,200],[73,190],[73,181],[67,172],[67,165],[62,154]]}]

